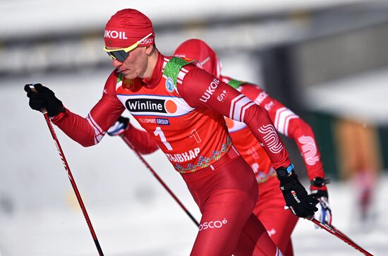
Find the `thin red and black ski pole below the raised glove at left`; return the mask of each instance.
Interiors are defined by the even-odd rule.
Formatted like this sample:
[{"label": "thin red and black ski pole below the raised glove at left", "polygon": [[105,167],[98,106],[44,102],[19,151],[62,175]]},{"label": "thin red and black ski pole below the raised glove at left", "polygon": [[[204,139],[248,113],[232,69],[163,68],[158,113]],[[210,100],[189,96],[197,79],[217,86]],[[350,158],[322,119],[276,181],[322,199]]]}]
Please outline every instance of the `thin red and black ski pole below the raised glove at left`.
[{"label": "thin red and black ski pole below the raised glove at left", "polygon": [[[33,84],[30,85],[30,88],[31,88],[32,92],[37,92],[37,90],[35,90],[35,87]],[[83,216],[85,217],[85,220],[87,222],[87,226],[89,226],[90,233],[92,234],[92,238],[95,241],[95,245],[96,245],[96,248],[98,250],[99,256],[104,256],[104,253],[102,252],[101,246],[99,245],[99,242],[98,242],[98,239],[97,239],[97,236],[95,233],[95,229],[92,226],[92,221],[90,221],[89,215],[86,212],[86,207],[83,204],[83,200],[81,198],[80,192],[78,191],[78,188],[77,188],[77,185],[75,184],[73,175],[71,174],[70,167],[68,166],[68,163],[66,161],[65,154],[63,154],[61,145],[59,145],[59,140],[56,137],[54,127],[52,126],[49,115],[47,114],[47,109],[41,109],[40,111],[42,112],[44,119],[46,120],[47,126],[49,127],[51,136],[52,136],[52,138],[55,142],[55,145],[56,145],[56,149],[59,152],[59,157],[61,157],[63,167],[65,167],[66,173],[68,175],[68,179],[71,182],[71,186],[73,187],[75,196],[77,197],[78,203],[80,204],[80,207],[81,207],[82,212],[83,212]]]}]

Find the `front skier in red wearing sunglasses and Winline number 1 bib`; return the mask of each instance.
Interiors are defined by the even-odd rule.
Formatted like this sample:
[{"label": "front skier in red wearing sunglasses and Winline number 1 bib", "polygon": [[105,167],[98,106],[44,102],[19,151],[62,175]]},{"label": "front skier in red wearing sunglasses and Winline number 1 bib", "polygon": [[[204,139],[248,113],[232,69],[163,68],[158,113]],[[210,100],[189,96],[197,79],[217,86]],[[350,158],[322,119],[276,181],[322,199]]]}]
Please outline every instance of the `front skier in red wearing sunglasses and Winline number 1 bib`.
[{"label": "front skier in red wearing sunglasses and Winline number 1 bib", "polygon": [[102,140],[128,109],[154,135],[200,207],[191,255],[281,255],[252,214],[257,182],[234,150],[224,121],[229,116],[246,123],[277,171],[286,205],[298,217],[311,217],[317,200],[298,181],[267,111],[201,68],[159,53],[152,23],[140,11],[114,14],[104,40],[115,69],[86,118],[66,109],[40,84],[35,85],[37,92],[25,86],[30,107],[46,108],[51,121],[85,147]]}]

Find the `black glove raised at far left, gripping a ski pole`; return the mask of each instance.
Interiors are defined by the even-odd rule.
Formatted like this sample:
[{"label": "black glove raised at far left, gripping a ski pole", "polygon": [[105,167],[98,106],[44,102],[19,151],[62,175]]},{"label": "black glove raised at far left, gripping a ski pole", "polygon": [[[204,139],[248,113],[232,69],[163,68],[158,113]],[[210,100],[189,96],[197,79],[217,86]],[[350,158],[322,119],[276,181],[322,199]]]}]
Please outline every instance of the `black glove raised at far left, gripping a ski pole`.
[{"label": "black glove raised at far left, gripping a ski pole", "polygon": [[40,83],[34,84],[37,92],[32,92],[30,85],[25,85],[24,90],[27,92],[27,97],[30,98],[30,107],[40,111],[41,109],[47,109],[47,114],[50,117],[56,116],[65,111],[62,102],[57,99],[54,92],[49,88],[44,87]]}]

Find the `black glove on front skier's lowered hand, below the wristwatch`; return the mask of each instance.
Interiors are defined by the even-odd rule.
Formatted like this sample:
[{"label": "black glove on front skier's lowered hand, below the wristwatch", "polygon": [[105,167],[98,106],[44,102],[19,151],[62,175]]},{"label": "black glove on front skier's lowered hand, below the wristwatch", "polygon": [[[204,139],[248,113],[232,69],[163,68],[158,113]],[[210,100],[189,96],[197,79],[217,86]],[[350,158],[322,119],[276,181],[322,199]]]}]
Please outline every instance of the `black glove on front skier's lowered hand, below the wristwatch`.
[{"label": "black glove on front skier's lowered hand, below the wristwatch", "polygon": [[295,171],[292,170],[290,173],[291,175],[284,167],[277,169],[277,178],[280,181],[280,189],[286,206],[298,217],[313,217],[314,212],[317,211],[315,205],[318,200],[308,196]]}]

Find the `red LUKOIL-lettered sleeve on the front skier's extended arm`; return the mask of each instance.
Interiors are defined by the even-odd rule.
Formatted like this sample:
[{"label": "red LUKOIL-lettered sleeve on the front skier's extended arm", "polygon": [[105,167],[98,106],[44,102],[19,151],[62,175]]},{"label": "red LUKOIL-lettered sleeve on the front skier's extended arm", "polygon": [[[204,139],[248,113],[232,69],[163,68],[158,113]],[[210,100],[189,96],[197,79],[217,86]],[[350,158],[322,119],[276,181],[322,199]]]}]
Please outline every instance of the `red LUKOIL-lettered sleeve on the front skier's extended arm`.
[{"label": "red LUKOIL-lettered sleeve on the front skier's extended arm", "polygon": [[238,90],[194,67],[190,67],[182,83],[177,83],[177,89],[191,106],[212,109],[223,116],[244,122],[267,152],[274,169],[291,164],[289,154],[267,111]]}]

